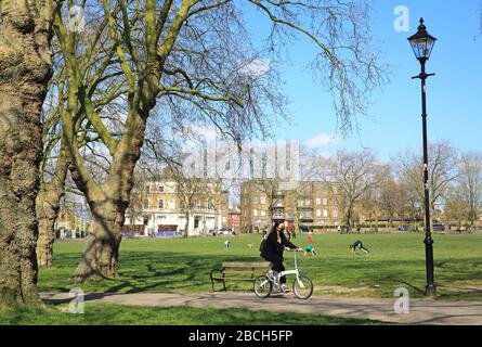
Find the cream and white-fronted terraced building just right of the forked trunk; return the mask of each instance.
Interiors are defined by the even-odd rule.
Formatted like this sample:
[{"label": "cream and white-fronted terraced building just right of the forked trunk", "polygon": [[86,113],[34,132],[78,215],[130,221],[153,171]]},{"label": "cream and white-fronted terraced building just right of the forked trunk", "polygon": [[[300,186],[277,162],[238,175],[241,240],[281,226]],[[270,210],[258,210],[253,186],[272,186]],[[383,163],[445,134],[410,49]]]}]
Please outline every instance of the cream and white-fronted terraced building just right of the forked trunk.
[{"label": "cream and white-fronted terraced building just right of the forked trunk", "polygon": [[229,194],[216,181],[165,177],[133,193],[126,230],[143,235],[186,232],[212,234],[229,223]]}]

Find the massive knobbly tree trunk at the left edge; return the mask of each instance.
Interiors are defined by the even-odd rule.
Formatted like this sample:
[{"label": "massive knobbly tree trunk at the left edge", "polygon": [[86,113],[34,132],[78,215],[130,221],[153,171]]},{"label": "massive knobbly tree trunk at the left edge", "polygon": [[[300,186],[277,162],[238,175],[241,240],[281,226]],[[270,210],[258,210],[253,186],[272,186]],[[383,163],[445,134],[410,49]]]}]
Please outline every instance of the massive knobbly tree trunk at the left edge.
[{"label": "massive knobbly tree trunk at the left edge", "polygon": [[3,0],[0,9],[0,305],[40,303],[35,200],[52,3]]}]

